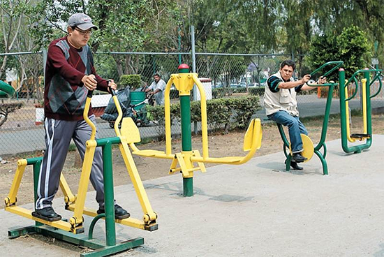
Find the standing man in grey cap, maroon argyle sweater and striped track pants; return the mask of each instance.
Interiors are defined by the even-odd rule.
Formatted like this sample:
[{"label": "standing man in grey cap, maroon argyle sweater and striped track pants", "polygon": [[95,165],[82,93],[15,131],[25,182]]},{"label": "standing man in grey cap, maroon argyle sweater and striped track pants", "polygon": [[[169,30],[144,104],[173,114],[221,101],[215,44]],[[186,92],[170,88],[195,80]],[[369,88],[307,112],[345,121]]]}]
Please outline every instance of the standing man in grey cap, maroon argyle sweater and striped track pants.
[{"label": "standing man in grey cap, maroon argyle sweater and striped track pants", "polygon": [[[80,156],[84,159],[85,142],[91,137],[91,127],[84,121],[85,100],[89,90],[110,91],[116,84],[96,74],[94,59],[87,45],[92,29],[91,18],[76,13],[68,20],[68,35],[50,43],[45,67],[45,144],[38,178],[38,199],[36,211],[32,213],[40,219],[58,221],[61,216],[54,212],[52,200],[59,189],[61,170],[71,140],[75,142]],[[95,116],[89,111],[89,119],[94,124]],[[96,135],[97,137],[97,135]],[[98,214],[104,210],[103,158],[100,147],[96,147],[91,170],[91,184],[96,189]],[[115,204],[116,219],[126,219],[130,214]]]}]

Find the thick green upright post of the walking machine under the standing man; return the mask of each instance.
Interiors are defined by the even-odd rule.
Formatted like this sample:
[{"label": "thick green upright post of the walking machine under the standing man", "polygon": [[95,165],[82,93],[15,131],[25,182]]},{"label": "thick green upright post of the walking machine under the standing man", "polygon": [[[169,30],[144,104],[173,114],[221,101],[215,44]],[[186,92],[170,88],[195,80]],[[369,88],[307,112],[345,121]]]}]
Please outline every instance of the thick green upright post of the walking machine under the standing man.
[{"label": "thick green upright post of the walking machine under the standing man", "polygon": [[108,247],[116,245],[115,197],[113,196],[112,142],[103,146],[105,241]]}]

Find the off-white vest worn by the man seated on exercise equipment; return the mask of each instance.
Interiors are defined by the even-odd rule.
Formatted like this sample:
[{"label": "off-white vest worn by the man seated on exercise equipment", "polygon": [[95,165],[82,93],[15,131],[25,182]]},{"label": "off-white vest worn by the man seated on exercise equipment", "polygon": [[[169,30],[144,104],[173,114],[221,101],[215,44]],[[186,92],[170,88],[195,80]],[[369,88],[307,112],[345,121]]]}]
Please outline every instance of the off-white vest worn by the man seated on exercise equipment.
[{"label": "off-white vest worn by the man seated on exercise equipment", "polygon": [[[272,76],[280,78],[284,81],[283,78],[281,78],[280,71]],[[290,78],[290,81],[293,81],[293,78]],[[268,85],[265,85],[264,105],[267,115],[272,115],[274,112],[278,112],[279,110],[285,110],[292,116],[299,116],[295,88],[279,89],[278,92],[274,93],[269,89]]]}]

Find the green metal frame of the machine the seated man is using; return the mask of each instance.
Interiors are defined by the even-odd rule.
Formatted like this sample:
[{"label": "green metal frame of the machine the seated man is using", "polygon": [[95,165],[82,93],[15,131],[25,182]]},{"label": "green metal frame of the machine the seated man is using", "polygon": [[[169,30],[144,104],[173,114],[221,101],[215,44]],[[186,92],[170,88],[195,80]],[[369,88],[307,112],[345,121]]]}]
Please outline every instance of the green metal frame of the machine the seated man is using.
[{"label": "green metal frame of the machine the seated man is using", "polygon": [[[319,68],[317,68],[315,71],[311,72],[311,75],[314,75],[318,73],[319,71],[322,71],[325,67],[334,65],[330,70],[326,71],[323,73],[323,76],[326,77],[333,71],[335,71],[337,68],[343,65],[343,61],[329,61]],[[310,87],[329,87],[328,90],[328,96],[327,96],[327,103],[325,105],[325,113],[324,113],[324,119],[323,119],[323,128],[321,130],[321,136],[320,136],[320,141],[314,147],[314,153],[318,156],[318,158],[321,161],[321,165],[323,166],[323,175],[328,175],[328,166],[327,166],[327,161],[325,161],[325,156],[327,156],[327,145],[325,145],[325,138],[327,137],[327,129],[328,129],[328,121],[330,119],[330,110],[331,110],[331,104],[332,104],[332,94],[334,90],[334,86],[337,85],[337,83],[325,83],[321,85],[311,85],[307,84]],[[291,154],[287,153],[286,149],[289,149],[289,141],[286,137],[286,133],[284,133],[283,126],[281,124],[277,124],[277,127],[279,129],[279,133],[281,136],[281,139],[283,140],[283,152],[286,156],[286,171],[290,170],[290,161],[292,160]],[[323,154],[320,152],[320,149],[323,148]]]}]

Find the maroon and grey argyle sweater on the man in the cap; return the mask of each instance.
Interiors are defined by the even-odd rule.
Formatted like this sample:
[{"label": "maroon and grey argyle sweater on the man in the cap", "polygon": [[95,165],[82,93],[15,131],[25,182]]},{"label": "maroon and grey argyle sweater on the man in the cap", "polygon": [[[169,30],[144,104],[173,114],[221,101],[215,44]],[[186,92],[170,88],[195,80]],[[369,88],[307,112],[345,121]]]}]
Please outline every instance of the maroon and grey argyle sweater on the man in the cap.
[{"label": "maroon and grey argyle sweater on the man in the cap", "polygon": [[76,49],[68,43],[67,37],[52,41],[45,66],[45,117],[67,121],[83,119],[88,89],[81,80],[89,74],[96,76],[98,90],[108,91],[107,80],[96,74],[88,45]]}]

